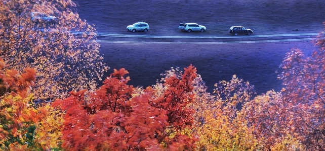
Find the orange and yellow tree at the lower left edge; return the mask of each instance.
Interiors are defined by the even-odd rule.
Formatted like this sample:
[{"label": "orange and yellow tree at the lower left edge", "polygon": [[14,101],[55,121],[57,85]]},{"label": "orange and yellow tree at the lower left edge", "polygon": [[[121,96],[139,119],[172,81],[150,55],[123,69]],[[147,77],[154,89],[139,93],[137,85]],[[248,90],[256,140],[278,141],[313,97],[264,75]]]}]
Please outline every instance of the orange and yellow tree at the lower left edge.
[{"label": "orange and yellow tree at the lower left edge", "polygon": [[36,72],[26,68],[19,74],[5,68],[4,60],[0,59],[0,149],[26,150],[34,143],[31,133],[37,120],[30,93]]}]

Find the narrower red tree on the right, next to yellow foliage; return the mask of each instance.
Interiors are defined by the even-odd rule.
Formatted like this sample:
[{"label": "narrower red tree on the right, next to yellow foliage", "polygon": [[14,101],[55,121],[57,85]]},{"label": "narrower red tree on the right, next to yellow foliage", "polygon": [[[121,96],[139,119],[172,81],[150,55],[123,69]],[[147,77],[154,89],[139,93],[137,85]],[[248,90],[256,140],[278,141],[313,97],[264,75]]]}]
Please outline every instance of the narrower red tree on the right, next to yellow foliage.
[{"label": "narrower red tree on the right, next to yellow foliage", "polygon": [[184,72],[172,68],[163,75],[165,78],[161,81],[164,83],[146,89],[151,95],[151,106],[164,109],[168,116],[168,124],[157,136],[158,141],[170,150],[194,149],[197,139],[192,132],[194,109],[190,105],[195,98],[193,88],[197,78],[196,68],[190,65],[184,68]]}]

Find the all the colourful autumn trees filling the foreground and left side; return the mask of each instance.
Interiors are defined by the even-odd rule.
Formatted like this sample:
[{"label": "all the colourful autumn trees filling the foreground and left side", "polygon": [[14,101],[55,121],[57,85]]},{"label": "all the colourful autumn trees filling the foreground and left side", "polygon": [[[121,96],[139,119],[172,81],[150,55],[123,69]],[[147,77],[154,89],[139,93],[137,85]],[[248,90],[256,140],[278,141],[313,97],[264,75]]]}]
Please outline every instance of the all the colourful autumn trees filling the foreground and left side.
[{"label": "all the colourful autumn trees filling the foreground and left side", "polygon": [[233,75],[208,93],[192,65],[135,88],[124,68],[97,83],[109,67],[75,7],[0,2],[1,150],[325,150],[323,33],[310,57],[283,58],[280,92],[256,95]]}]

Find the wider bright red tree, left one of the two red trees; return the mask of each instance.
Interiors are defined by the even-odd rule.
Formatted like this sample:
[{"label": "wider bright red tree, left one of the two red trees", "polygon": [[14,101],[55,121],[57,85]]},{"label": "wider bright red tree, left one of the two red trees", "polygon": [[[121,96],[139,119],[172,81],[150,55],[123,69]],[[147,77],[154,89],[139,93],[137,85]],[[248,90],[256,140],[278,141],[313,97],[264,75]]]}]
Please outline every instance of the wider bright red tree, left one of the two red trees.
[{"label": "wider bright red tree, left one of the two red trees", "polygon": [[[127,85],[125,69],[114,70],[104,85],[85,96],[85,90],[71,92],[55,106],[66,110],[63,144],[69,150],[157,149],[157,131],[162,131],[165,114],[151,107],[146,97],[131,100],[133,86]],[[159,122],[161,121],[161,122]]]}]

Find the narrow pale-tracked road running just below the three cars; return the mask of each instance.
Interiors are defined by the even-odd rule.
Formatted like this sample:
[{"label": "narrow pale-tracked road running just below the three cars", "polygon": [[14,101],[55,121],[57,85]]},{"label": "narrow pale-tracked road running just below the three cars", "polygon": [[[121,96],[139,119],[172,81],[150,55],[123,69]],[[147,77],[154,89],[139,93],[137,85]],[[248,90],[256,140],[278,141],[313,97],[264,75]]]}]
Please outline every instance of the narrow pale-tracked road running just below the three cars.
[{"label": "narrow pale-tracked road running just below the three cars", "polygon": [[99,43],[120,44],[231,44],[313,40],[318,33],[273,34],[251,36],[152,36],[98,33]]}]

